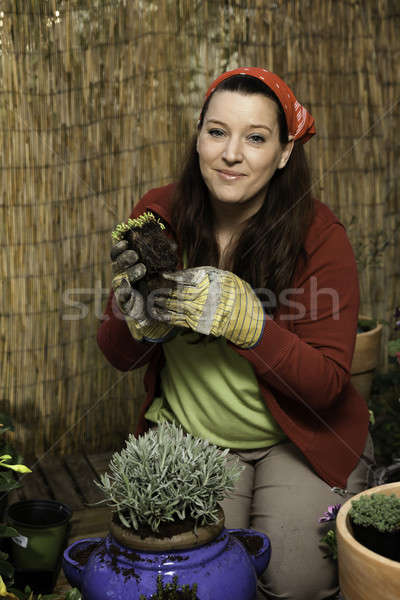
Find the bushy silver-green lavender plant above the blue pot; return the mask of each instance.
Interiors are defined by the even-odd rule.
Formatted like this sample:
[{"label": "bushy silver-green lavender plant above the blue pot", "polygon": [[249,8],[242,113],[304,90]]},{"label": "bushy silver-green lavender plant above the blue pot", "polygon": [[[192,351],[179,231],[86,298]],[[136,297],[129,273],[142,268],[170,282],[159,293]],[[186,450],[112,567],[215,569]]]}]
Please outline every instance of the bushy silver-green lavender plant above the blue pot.
[{"label": "bushy silver-green lavender plant above the blue pot", "polygon": [[227,464],[228,450],[162,423],[113,454],[97,485],[125,527],[148,526],[189,517],[196,526],[218,520],[218,503],[233,490],[242,467]]}]

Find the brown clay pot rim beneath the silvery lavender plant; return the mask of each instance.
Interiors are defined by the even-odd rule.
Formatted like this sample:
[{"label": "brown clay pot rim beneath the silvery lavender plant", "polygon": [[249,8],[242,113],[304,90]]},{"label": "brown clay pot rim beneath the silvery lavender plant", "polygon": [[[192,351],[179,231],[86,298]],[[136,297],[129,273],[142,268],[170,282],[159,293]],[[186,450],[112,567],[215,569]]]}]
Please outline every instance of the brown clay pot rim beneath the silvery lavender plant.
[{"label": "brown clay pot rim beneath the silvery lavender plant", "polygon": [[163,550],[184,550],[203,546],[214,540],[224,529],[225,515],[222,508],[218,511],[218,521],[211,525],[198,527],[197,535],[193,531],[178,533],[170,538],[157,538],[148,536],[141,538],[113,520],[110,522],[110,533],[116,541],[132,550],[143,550],[149,552],[159,552]]}]

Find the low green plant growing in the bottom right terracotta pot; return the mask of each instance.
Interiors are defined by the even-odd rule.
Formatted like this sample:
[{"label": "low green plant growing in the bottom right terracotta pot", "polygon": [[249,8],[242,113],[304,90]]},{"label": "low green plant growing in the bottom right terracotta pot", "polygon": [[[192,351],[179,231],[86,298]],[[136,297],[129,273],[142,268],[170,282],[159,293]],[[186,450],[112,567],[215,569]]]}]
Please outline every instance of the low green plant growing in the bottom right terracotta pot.
[{"label": "low green plant growing in the bottom right terracotta pot", "polygon": [[400,527],[400,498],[395,494],[363,494],[351,505],[349,515],[357,525],[371,525],[382,532]]}]

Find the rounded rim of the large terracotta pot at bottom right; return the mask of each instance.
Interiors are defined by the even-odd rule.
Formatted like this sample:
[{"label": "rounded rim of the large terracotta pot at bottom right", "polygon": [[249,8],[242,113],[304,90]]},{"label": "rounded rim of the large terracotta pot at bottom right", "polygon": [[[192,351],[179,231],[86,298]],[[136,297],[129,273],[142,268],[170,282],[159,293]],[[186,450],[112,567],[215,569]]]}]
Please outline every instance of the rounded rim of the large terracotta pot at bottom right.
[{"label": "rounded rim of the large terracotta pot at bottom right", "polygon": [[354,535],[351,533],[351,530],[350,530],[351,522],[350,522],[350,516],[349,516],[349,511],[351,509],[351,501],[352,500],[358,500],[360,498],[360,496],[364,496],[366,494],[371,495],[371,494],[376,494],[376,493],[382,493],[384,491],[391,494],[395,490],[399,491],[399,496],[400,496],[400,482],[398,482],[398,481],[395,481],[394,483],[387,483],[385,485],[378,485],[376,487],[369,488],[367,490],[360,492],[359,494],[356,494],[352,498],[349,498],[349,500],[346,500],[346,502],[342,505],[342,507],[339,510],[339,513],[336,517],[336,527],[337,527],[337,531],[339,534],[339,538],[342,537],[343,541],[346,544],[351,544],[354,552],[356,552],[358,555],[362,556],[366,560],[373,559],[376,563],[381,563],[381,564],[384,564],[387,566],[390,565],[390,567],[392,569],[395,569],[396,571],[398,571],[398,574],[400,575],[400,562],[398,562],[396,560],[392,560],[391,558],[386,558],[385,556],[382,556],[381,554],[377,554],[376,552],[373,552],[369,548],[366,548],[365,546],[360,544],[360,542],[358,542],[355,539]]}]

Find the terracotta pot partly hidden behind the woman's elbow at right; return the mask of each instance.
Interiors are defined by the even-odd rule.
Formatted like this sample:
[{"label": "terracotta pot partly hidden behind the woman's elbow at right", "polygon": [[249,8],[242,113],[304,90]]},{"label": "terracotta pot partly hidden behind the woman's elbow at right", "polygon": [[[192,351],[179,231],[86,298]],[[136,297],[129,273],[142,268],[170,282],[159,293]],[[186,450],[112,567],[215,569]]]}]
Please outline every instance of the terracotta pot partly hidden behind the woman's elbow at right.
[{"label": "terracotta pot partly hidden behind the woman's elbow at right", "polygon": [[[360,319],[367,317],[360,316]],[[365,401],[371,393],[374,371],[379,364],[381,349],[382,325],[374,329],[357,333],[353,362],[351,364],[351,383]]]}]

